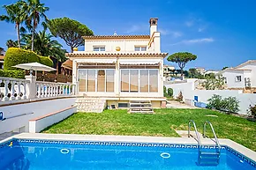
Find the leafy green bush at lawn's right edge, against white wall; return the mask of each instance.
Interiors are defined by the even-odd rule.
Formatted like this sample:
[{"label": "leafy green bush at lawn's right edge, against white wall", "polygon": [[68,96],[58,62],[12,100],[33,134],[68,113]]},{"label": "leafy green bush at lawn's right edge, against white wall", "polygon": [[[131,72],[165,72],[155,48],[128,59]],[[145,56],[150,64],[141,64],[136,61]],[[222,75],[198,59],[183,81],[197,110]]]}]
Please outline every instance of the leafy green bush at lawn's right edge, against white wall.
[{"label": "leafy green bush at lawn's right edge, against white wall", "polygon": [[228,113],[237,113],[239,111],[239,101],[236,97],[222,99],[220,95],[214,95],[208,100],[207,108],[226,111]]}]

